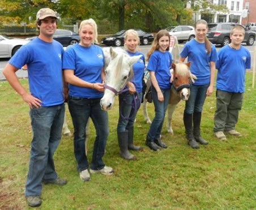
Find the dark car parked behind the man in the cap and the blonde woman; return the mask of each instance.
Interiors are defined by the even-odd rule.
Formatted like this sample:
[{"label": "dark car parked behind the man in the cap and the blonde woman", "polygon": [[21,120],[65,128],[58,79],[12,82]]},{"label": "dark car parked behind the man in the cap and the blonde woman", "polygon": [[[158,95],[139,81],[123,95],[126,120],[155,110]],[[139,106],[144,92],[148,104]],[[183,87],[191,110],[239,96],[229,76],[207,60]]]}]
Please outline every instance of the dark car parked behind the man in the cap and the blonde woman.
[{"label": "dark car parked behind the man in the cap and the blonde woman", "polygon": [[[36,36],[27,38],[28,40],[33,40]],[[63,46],[74,45],[80,41],[78,33],[65,30],[56,29],[53,35],[54,40],[60,42]]]}]

